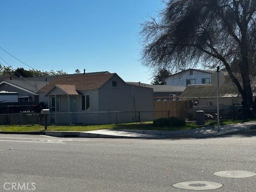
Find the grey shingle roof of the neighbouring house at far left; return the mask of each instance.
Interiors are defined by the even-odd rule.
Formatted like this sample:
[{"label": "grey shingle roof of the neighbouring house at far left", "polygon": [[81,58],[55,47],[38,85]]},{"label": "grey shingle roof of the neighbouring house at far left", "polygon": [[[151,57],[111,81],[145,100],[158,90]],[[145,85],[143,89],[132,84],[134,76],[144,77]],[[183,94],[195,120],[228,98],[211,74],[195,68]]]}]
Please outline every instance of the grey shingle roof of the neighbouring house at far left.
[{"label": "grey shingle roof of the neighbouring house at far left", "polygon": [[[0,83],[3,81],[8,82],[8,84],[12,84],[23,88],[24,90],[28,90],[33,92],[34,94],[38,93],[38,90],[42,89],[46,84],[48,84],[54,78],[59,77],[76,77],[76,76],[88,76],[88,75],[95,75],[95,74],[110,74],[108,71],[101,71],[101,72],[91,72],[85,74],[66,74],[66,75],[59,75],[59,76],[40,76],[40,77],[28,77],[28,78],[18,78],[14,75],[2,75],[0,76]],[[10,80],[10,76],[12,80]]]}]

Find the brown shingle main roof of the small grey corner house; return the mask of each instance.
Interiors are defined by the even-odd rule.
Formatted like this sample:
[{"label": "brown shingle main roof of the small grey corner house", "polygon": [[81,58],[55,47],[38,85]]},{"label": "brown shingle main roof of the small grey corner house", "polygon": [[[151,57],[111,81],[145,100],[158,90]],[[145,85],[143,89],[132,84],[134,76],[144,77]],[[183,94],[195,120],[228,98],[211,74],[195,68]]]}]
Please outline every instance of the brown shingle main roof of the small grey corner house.
[{"label": "brown shingle main roof of the small grey corner house", "polygon": [[92,75],[81,75],[81,76],[66,76],[54,78],[49,82],[48,85],[44,86],[39,92],[48,92],[55,85],[74,85],[75,90],[91,90],[99,89],[105,84],[110,78],[116,73],[109,74],[92,74]]}]

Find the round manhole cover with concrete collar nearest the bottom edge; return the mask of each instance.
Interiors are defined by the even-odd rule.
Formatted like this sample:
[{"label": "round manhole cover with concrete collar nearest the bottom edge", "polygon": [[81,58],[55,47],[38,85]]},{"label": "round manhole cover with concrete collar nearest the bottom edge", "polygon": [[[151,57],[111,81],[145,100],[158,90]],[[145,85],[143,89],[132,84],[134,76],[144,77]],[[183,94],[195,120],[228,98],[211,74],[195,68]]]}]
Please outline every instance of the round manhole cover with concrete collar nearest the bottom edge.
[{"label": "round manhole cover with concrete collar nearest the bottom edge", "polygon": [[218,189],[223,185],[221,183],[211,181],[186,181],[172,185],[175,188],[190,189],[190,190],[212,190]]}]

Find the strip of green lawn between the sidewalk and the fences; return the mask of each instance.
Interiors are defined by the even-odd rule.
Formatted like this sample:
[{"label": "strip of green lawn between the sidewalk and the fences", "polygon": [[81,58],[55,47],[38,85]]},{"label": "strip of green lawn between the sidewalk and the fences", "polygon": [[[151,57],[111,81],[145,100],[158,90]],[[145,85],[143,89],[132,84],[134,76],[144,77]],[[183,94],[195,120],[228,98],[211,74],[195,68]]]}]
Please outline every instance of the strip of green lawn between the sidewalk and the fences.
[{"label": "strip of green lawn between the sidewalk and the fences", "polygon": [[[255,119],[248,120],[225,120],[221,122],[221,125],[233,124],[246,122]],[[48,131],[92,131],[99,129],[134,129],[134,130],[186,130],[193,128],[200,128],[205,126],[216,125],[216,121],[207,121],[205,125],[198,126],[195,122],[187,122],[185,126],[175,126],[175,127],[156,127],[153,126],[152,122],[140,122],[140,123],[124,123],[124,124],[107,124],[107,125],[90,125],[90,126],[48,126]],[[34,132],[34,131],[44,131],[44,126],[34,125],[34,126],[0,126],[1,132]]]}]

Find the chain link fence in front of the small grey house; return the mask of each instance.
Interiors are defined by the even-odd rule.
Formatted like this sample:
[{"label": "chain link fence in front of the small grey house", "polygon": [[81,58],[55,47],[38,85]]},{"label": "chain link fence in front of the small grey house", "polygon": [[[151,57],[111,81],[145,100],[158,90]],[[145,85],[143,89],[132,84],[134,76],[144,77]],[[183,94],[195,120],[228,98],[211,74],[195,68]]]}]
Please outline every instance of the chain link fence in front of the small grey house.
[{"label": "chain link fence in front of the small grey house", "polygon": [[[170,111],[105,111],[46,114],[47,124],[56,126],[86,126],[147,122],[153,121],[156,117],[168,118],[170,116]],[[34,112],[0,114],[0,125],[44,125],[44,117],[44,114]]]}]

